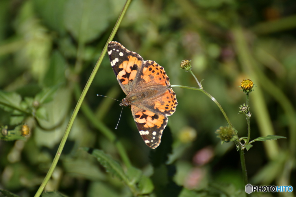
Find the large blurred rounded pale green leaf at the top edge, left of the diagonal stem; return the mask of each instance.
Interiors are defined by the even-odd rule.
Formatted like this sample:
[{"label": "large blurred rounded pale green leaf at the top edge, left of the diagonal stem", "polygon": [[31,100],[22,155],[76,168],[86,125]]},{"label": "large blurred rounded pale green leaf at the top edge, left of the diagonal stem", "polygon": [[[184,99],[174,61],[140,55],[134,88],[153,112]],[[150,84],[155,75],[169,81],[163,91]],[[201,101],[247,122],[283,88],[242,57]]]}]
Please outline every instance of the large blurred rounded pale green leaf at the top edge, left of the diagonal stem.
[{"label": "large blurred rounded pale green leaf at the top edge, left of the diagonal stem", "polygon": [[66,4],[65,26],[80,43],[97,38],[111,17],[109,0],[71,0]]}]

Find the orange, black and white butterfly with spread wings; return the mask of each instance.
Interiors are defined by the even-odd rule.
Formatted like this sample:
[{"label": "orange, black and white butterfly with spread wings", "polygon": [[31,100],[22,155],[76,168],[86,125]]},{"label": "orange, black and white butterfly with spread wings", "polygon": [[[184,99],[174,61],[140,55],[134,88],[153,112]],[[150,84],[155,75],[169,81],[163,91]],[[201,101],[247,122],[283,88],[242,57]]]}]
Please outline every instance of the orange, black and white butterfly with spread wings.
[{"label": "orange, black and white butterfly with spread wings", "polygon": [[130,106],[133,119],[144,142],[152,149],[159,146],[167,116],[178,104],[176,93],[162,66],[146,60],[122,44],[112,41],[107,47],[118,83],[126,94],[121,106]]}]

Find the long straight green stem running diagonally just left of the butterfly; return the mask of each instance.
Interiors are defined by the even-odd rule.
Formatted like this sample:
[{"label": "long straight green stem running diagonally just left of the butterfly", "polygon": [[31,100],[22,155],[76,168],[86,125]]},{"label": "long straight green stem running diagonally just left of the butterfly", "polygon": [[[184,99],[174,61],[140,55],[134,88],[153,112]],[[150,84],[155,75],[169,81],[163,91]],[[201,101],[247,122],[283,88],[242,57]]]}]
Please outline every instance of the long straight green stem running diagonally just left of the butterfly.
[{"label": "long straight green stem running diagonally just left of the butterfly", "polygon": [[127,11],[128,6],[129,6],[130,3],[131,3],[131,0],[126,0],[126,3],[125,3],[125,5],[124,5],[124,7],[123,7],[122,12],[120,13],[120,15],[119,15],[119,17],[118,17],[118,20],[117,20],[117,22],[116,22],[116,24],[115,24],[115,27],[114,27],[114,29],[112,30],[112,32],[111,32],[111,34],[110,34],[110,36],[109,36],[109,39],[107,40],[107,43],[105,44],[105,46],[104,46],[104,48],[103,48],[103,51],[102,51],[102,53],[101,53],[101,55],[100,55],[98,61],[96,62],[96,65],[95,65],[95,67],[94,67],[94,70],[92,71],[92,73],[91,73],[91,75],[90,75],[90,77],[89,77],[89,80],[87,81],[87,83],[86,83],[86,85],[85,85],[85,87],[84,87],[84,89],[83,89],[83,91],[82,91],[82,93],[81,93],[81,96],[80,96],[80,98],[79,98],[79,100],[78,100],[78,102],[77,102],[77,104],[76,104],[76,107],[75,107],[75,109],[74,109],[74,111],[73,111],[73,114],[72,114],[72,116],[71,116],[71,118],[70,118],[70,121],[69,121],[69,123],[68,123],[68,125],[67,125],[67,128],[66,128],[66,131],[65,131],[65,133],[64,133],[64,136],[63,136],[63,138],[62,138],[62,140],[61,140],[61,143],[59,144],[59,148],[58,148],[58,150],[57,150],[57,153],[56,153],[56,155],[55,155],[55,157],[54,157],[54,159],[53,159],[52,165],[50,166],[50,168],[49,168],[49,170],[48,170],[48,172],[47,172],[47,174],[46,174],[46,176],[45,176],[43,182],[41,183],[41,185],[40,185],[40,187],[38,188],[38,190],[37,190],[37,192],[36,192],[36,194],[35,194],[34,197],[39,197],[39,196],[41,195],[41,193],[42,193],[42,191],[44,190],[44,188],[45,188],[47,182],[49,181],[50,177],[52,176],[52,173],[54,172],[54,168],[56,167],[57,162],[58,162],[58,160],[59,160],[59,157],[60,157],[61,154],[62,154],[62,150],[63,150],[63,148],[64,148],[64,146],[65,146],[66,140],[67,140],[68,135],[69,135],[69,133],[70,133],[70,130],[71,130],[71,128],[72,128],[73,122],[74,122],[74,120],[75,120],[75,118],[76,118],[76,115],[77,115],[77,113],[78,113],[78,111],[79,111],[79,109],[80,109],[80,107],[81,107],[81,105],[82,105],[83,99],[84,99],[84,97],[85,97],[85,95],[86,95],[86,93],[87,93],[87,91],[88,91],[88,89],[89,89],[89,87],[90,87],[90,85],[91,85],[91,82],[94,80],[94,77],[95,77],[95,75],[96,75],[96,72],[98,71],[98,69],[99,69],[99,67],[100,67],[100,65],[101,65],[101,63],[102,63],[102,60],[103,60],[103,57],[104,57],[105,53],[107,52],[107,44],[108,44],[110,41],[112,41],[112,39],[114,38],[114,35],[115,35],[115,33],[117,32],[118,27],[119,27],[119,25],[120,25],[120,23],[121,23],[121,21],[122,21],[122,19],[123,19],[123,16],[125,15],[125,13],[126,13],[126,11]]}]

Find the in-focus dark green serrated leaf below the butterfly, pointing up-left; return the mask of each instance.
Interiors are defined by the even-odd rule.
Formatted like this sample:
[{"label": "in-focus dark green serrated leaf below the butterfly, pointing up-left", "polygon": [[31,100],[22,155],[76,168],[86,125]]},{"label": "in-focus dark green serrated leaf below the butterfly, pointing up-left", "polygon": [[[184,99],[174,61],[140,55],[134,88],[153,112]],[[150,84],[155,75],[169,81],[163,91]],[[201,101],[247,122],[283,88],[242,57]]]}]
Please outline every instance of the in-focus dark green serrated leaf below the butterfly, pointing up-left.
[{"label": "in-focus dark green serrated leaf below the butterfly, pointing up-left", "polygon": [[116,176],[120,180],[123,180],[125,183],[128,183],[128,177],[124,173],[122,167],[118,162],[116,162],[112,157],[108,154],[105,154],[102,150],[94,149],[91,150],[89,148],[82,148],[86,152],[89,152],[92,156],[96,157],[101,165],[106,169],[107,172]]}]

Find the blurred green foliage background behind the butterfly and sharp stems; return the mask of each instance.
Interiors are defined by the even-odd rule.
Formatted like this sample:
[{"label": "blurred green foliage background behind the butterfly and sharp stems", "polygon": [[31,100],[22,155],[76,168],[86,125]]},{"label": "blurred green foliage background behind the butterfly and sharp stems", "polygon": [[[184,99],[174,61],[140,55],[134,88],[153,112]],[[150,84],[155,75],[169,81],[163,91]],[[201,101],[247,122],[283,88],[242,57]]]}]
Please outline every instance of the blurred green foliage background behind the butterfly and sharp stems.
[{"label": "blurred green foliage background behind the butterfly and sharp stems", "polygon": [[[0,188],[20,196],[36,193],[124,3],[0,1]],[[238,86],[251,79],[257,85],[250,94],[251,140],[287,139],[254,142],[244,151],[249,182],[295,188],[295,35],[294,0],[133,0],[113,40],[163,66],[172,85],[198,87],[180,69],[182,60],[192,60],[193,73],[204,79],[203,88],[221,104],[239,137],[247,136],[247,122],[238,115],[246,102]],[[160,151],[151,150],[130,109],[123,108],[115,130],[119,102],[96,96],[125,97],[105,55],[46,190],[132,196],[128,186],[79,150],[101,149],[124,168],[114,143],[120,141],[131,165],[151,178],[151,196],[223,196],[221,188],[228,196],[244,196],[239,152],[215,133],[227,126],[219,108],[202,92],[173,90],[176,112]]]}]

